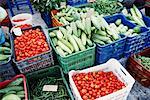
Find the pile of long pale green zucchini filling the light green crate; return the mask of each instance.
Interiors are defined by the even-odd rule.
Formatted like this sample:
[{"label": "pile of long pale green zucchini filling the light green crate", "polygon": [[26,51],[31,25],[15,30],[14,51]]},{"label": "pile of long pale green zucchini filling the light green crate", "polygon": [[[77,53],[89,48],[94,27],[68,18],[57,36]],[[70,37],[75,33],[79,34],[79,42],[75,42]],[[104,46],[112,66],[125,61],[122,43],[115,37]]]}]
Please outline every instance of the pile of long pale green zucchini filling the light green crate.
[{"label": "pile of long pale green zucchini filling the light green crate", "polygon": [[92,26],[91,19],[85,18],[52,30],[49,35],[57,52],[61,56],[67,56],[93,46],[91,41],[93,29],[95,27]]}]

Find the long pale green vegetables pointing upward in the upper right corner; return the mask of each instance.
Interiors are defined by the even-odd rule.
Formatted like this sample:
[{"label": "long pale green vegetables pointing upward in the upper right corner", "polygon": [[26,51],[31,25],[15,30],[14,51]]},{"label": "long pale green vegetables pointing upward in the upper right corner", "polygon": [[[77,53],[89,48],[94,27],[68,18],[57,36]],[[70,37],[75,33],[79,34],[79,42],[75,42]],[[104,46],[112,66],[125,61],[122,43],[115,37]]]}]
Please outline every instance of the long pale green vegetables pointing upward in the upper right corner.
[{"label": "long pale green vegetables pointing upward in the upper right corner", "polygon": [[126,16],[127,19],[130,20],[130,22],[135,23],[139,26],[146,27],[143,21],[142,13],[138,10],[138,8],[135,5],[133,5],[133,8],[130,8],[129,11],[126,8],[124,8],[122,10],[122,13]]}]

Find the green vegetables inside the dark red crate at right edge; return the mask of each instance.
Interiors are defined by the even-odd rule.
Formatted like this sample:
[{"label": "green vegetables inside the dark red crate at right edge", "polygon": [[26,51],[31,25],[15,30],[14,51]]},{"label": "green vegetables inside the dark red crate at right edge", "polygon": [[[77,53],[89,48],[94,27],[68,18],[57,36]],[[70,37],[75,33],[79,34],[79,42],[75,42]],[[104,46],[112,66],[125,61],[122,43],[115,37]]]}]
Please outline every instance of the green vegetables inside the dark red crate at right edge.
[{"label": "green vegetables inside the dark red crate at right edge", "polygon": [[138,56],[137,59],[138,61],[141,62],[141,64],[143,65],[145,69],[150,70],[150,58],[149,57]]}]

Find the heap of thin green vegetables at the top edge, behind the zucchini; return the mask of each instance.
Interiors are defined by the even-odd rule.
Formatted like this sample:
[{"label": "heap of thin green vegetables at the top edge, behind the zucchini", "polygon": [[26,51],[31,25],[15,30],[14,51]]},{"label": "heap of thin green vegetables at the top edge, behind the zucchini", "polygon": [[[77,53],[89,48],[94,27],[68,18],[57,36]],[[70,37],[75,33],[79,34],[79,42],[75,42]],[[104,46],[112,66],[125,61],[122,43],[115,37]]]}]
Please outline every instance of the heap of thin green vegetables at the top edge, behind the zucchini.
[{"label": "heap of thin green vegetables at the top edge, behind the zucchini", "polygon": [[118,0],[96,0],[91,7],[103,15],[119,13],[123,9],[123,5]]}]

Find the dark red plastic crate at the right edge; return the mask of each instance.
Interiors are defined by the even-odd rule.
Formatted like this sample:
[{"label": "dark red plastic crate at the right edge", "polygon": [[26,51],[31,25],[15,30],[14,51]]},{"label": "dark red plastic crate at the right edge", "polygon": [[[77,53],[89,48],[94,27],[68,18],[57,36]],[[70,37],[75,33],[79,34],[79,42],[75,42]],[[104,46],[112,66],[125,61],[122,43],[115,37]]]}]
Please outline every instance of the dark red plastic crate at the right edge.
[{"label": "dark red plastic crate at the right edge", "polygon": [[[150,57],[150,48],[147,48],[136,55]],[[143,65],[135,59],[135,55],[132,55],[128,59],[127,70],[143,86],[150,86],[150,70],[146,70]]]}]

